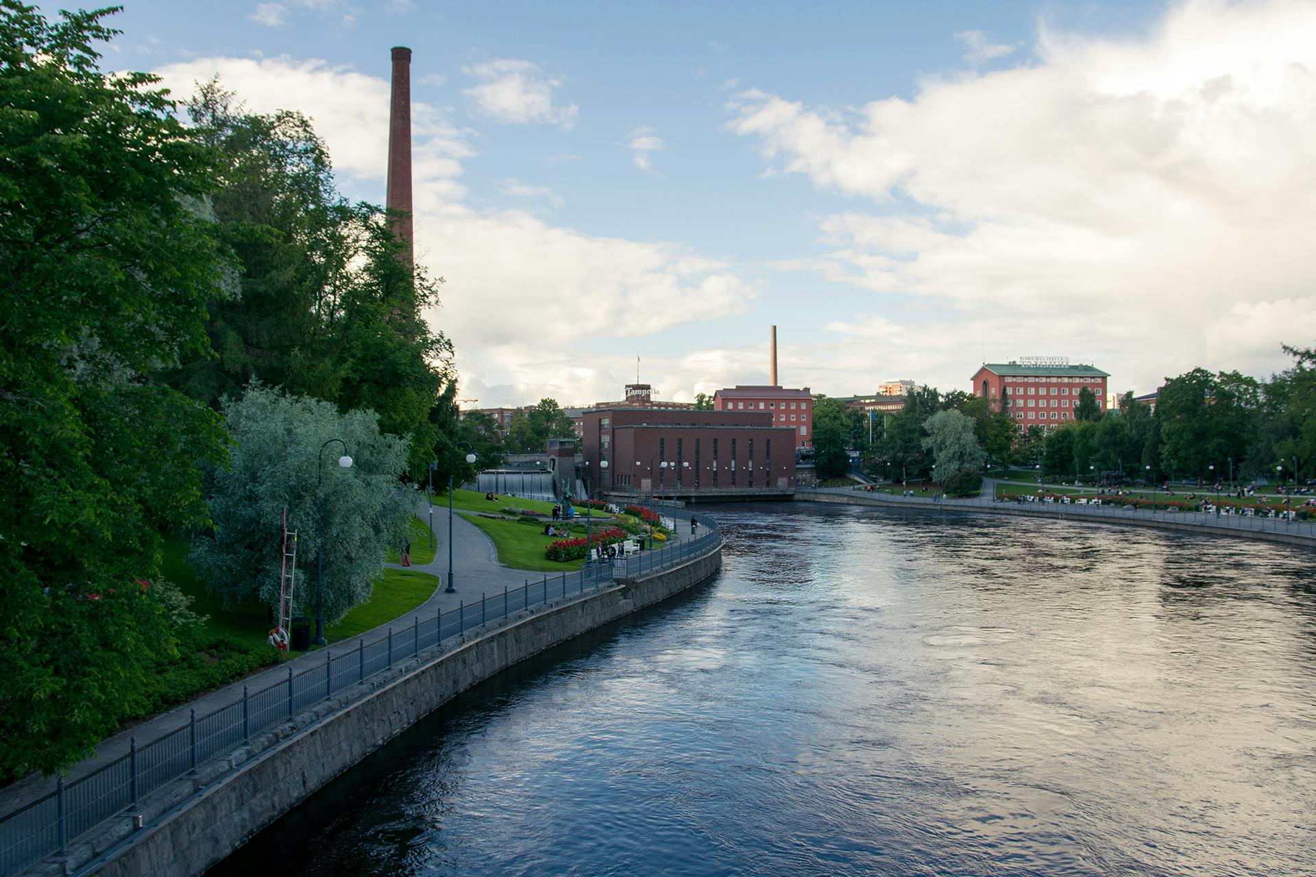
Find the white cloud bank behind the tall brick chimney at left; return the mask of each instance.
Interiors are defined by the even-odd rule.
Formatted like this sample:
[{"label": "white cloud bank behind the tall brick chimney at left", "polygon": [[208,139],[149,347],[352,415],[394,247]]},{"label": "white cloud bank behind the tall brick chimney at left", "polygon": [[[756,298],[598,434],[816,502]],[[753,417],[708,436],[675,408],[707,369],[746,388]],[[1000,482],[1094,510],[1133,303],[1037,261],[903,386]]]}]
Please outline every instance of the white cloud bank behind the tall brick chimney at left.
[{"label": "white cloud bank behind the tall brick chimney at left", "polygon": [[[218,74],[253,112],[301,110],[315,120],[336,171],[374,185],[383,200],[387,80],[290,58],[201,58],[157,72],[180,96]],[[470,133],[415,100],[412,133],[416,256],[445,279],[442,306],[426,316],[457,346],[466,398],[613,398],[629,358],[576,362],[563,351],[583,335],[641,338],[742,313],[757,295],[730,266],[676,243],[584,234],[524,210],[478,210],[458,183],[462,160],[475,154]],[[555,197],[517,180],[501,188]]]}]

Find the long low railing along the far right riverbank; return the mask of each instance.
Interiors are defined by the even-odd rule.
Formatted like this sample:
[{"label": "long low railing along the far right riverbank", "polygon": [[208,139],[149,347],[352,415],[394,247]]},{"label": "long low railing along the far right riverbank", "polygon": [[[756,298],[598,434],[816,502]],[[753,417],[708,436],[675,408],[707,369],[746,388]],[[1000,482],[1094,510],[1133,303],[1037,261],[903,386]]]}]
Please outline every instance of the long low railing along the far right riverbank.
[{"label": "long low railing along the far right riverbank", "polygon": [[[1033,511],[1063,511],[1065,514],[1073,514],[1076,517],[1090,517],[1095,519],[1104,521],[1157,521],[1167,523],[1187,523],[1202,527],[1204,531],[1209,530],[1248,530],[1252,533],[1287,533],[1295,536],[1303,536],[1309,539],[1316,539],[1316,522],[1311,521],[1295,521],[1286,517],[1269,517],[1259,514],[1216,514],[1213,511],[1154,511],[1150,509],[1134,509],[1130,505],[1116,505],[1119,497],[1096,497],[1101,500],[1101,505],[1079,505],[1076,502],[1041,502],[1041,501],[1017,501],[1009,497],[974,497],[969,500],[950,500],[941,498],[936,500],[933,497],[903,497],[895,493],[879,493],[867,490],[855,490],[854,488],[815,488],[809,493],[836,493],[836,494],[853,494],[857,493],[865,497],[876,497],[891,504],[907,504],[919,506],[938,506],[946,509],[962,509],[962,508],[1001,508],[1011,506]],[[805,498],[805,497],[801,497]],[[1092,497],[1088,497],[1092,498]],[[1109,505],[1107,505],[1109,502]],[[1221,506],[1223,508],[1223,506]],[[1277,509],[1278,511],[1278,509]]]}]

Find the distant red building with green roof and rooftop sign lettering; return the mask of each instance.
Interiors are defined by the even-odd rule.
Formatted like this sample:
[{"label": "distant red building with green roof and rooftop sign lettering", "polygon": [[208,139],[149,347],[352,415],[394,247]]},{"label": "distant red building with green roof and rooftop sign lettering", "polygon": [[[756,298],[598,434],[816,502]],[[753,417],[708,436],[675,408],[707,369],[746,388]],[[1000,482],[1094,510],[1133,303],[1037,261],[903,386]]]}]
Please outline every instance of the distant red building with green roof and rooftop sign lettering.
[{"label": "distant red building with green roof and rooftop sign lettering", "polygon": [[1063,358],[1024,356],[1020,362],[987,363],[973,377],[974,396],[995,408],[1008,396],[1009,413],[1020,427],[1050,429],[1074,419],[1074,408],[1083,388],[1092,392],[1098,406],[1107,410],[1109,375],[1094,366],[1070,366]]}]

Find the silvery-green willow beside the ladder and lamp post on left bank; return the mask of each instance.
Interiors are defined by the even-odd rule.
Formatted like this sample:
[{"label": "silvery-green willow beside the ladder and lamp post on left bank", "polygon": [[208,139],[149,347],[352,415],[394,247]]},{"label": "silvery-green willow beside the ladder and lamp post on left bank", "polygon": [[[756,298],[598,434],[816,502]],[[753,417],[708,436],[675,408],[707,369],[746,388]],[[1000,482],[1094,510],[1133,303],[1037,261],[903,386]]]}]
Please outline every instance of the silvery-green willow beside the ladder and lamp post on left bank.
[{"label": "silvery-green willow beside the ladder and lamp post on left bank", "polygon": [[[407,439],[380,434],[372,412],[340,414],[328,402],[259,384],[224,402],[224,414],[230,460],[215,475],[216,526],[195,540],[193,568],[226,607],[275,605],[287,508],[301,582],[293,606],[313,611],[322,497],[324,615],[341,618],[370,597],[384,554],[403,542],[415,501],[397,481],[407,468]],[[337,464],[342,444],[321,454],[334,438],[346,443],[350,468]]]}]

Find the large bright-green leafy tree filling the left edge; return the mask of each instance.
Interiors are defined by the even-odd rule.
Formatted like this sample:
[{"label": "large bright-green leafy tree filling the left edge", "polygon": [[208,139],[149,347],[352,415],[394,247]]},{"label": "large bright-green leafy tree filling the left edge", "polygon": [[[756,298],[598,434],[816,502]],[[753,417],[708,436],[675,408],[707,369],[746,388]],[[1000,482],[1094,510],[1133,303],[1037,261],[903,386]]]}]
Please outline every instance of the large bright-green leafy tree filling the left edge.
[{"label": "large bright-green leafy tree filling the left edge", "polygon": [[207,521],[217,419],[147,380],[204,355],[229,255],[208,153],[147,74],[104,74],[111,11],[0,0],[0,778],[58,770],[176,655],[162,526]]}]

